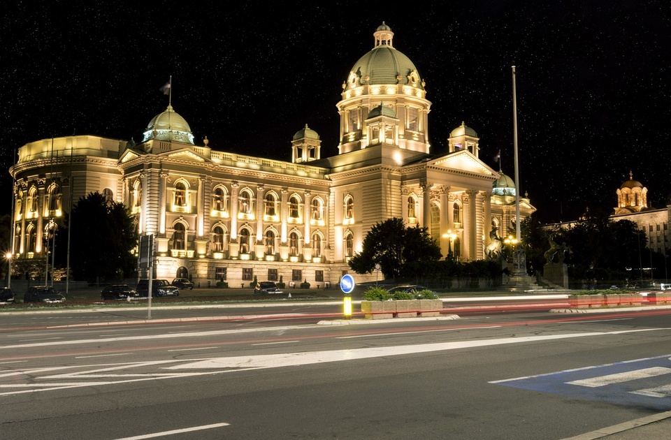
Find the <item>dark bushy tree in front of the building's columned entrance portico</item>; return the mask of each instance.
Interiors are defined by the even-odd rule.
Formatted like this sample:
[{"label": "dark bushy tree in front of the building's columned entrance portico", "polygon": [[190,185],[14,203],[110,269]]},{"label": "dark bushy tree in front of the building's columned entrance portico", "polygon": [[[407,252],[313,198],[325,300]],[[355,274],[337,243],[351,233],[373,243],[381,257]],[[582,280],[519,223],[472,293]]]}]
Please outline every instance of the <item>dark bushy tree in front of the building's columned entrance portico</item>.
[{"label": "dark bushy tree in front of the building's columned entrance portico", "polygon": [[440,246],[427,228],[406,228],[403,219],[394,217],[377,222],[363,239],[361,252],[349,260],[358,274],[373,272],[380,263],[387,279],[421,276],[442,257]]}]

